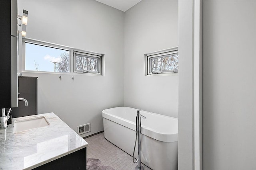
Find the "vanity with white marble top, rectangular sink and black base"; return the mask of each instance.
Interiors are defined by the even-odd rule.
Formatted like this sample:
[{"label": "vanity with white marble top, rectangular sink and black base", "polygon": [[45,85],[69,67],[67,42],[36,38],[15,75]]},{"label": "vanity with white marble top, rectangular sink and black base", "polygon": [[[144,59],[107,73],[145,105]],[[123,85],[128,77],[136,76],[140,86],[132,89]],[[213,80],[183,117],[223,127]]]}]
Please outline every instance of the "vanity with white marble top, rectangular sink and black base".
[{"label": "vanity with white marble top, rectangular sink and black base", "polygon": [[0,129],[0,169],[86,170],[87,146],[54,113],[14,118]]}]

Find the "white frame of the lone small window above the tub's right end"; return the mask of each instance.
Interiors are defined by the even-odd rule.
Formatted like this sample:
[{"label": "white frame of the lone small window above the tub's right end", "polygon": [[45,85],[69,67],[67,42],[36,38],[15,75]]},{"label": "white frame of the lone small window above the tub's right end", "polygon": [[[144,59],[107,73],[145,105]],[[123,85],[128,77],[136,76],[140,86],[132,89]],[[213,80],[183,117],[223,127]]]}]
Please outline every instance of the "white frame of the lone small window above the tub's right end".
[{"label": "white frame of the lone small window above the tub's right end", "polygon": [[174,47],[171,49],[166,49],[166,50],[162,50],[162,51],[156,51],[154,53],[148,53],[145,54],[145,60],[146,60],[146,75],[160,75],[161,74],[178,74],[178,69],[176,70],[161,70],[160,71],[156,71],[153,72],[152,71],[152,65],[151,65],[151,61],[152,59],[158,59],[158,58],[162,58],[162,57],[168,57],[168,56],[172,56],[172,55],[178,55],[178,47]]}]

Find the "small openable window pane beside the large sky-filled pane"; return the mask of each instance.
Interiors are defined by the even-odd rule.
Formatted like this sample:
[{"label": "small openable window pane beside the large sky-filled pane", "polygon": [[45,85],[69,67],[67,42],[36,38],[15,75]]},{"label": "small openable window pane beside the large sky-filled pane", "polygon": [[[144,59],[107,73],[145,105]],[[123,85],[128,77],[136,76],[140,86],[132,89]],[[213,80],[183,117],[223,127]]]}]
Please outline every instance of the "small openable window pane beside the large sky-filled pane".
[{"label": "small openable window pane beside the large sky-filled pane", "polygon": [[101,56],[74,52],[75,72],[101,74]]}]

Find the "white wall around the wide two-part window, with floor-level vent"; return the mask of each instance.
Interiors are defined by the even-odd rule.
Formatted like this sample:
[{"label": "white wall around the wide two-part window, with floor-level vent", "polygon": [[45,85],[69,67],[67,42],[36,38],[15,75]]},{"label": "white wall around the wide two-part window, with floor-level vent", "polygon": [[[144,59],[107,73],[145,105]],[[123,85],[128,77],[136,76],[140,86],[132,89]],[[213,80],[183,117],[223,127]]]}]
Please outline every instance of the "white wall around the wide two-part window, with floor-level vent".
[{"label": "white wall around the wide two-part window, with floor-level vent", "polygon": [[102,110],[124,106],[124,12],[94,0],[18,0],[18,9],[28,10],[26,37],[105,54],[104,76],[23,72],[38,76],[38,113],[75,131],[92,123],[82,136],[102,131]]}]

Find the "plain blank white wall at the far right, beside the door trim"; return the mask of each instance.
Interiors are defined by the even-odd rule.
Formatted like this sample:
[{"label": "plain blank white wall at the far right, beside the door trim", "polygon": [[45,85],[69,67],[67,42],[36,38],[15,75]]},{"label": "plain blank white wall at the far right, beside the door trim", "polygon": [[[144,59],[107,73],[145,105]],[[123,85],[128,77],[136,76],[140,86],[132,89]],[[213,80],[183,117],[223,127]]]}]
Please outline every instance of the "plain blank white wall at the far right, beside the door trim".
[{"label": "plain blank white wall at the far right, beside the door trim", "polygon": [[203,169],[256,167],[256,1],[203,2]]}]

